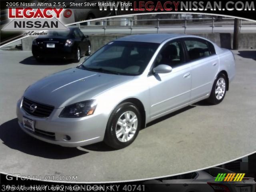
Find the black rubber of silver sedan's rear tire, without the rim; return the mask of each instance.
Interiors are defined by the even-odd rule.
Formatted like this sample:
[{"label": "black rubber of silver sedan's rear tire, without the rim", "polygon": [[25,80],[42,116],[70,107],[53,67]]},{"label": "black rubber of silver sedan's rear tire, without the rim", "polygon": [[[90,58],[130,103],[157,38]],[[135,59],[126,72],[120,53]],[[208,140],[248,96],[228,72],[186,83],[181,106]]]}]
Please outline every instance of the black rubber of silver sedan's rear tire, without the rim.
[{"label": "black rubber of silver sedan's rear tire, without the rim", "polygon": [[[220,79],[224,79],[225,84],[226,84],[222,98],[218,98],[216,96],[216,93],[215,93],[216,88],[217,88],[217,82]],[[212,86],[212,91],[211,91],[210,97],[208,99],[206,99],[206,101],[210,104],[213,104],[213,105],[219,104],[224,99],[224,97],[226,95],[226,91],[227,91],[227,78],[224,74],[219,74],[218,77],[216,78],[216,80],[214,81],[213,86]]]}]

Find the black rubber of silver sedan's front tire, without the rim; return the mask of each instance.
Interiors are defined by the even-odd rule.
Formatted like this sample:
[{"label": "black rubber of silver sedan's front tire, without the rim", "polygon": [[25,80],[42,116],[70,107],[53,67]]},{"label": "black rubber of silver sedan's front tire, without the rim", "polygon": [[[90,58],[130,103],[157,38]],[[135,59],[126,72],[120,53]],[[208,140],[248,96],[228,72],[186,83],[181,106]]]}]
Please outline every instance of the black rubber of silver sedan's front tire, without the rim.
[{"label": "black rubber of silver sedan's front tire, without the rim", "polygon": [[[118,138],[116,136],[116,126],[117,126],[117,121],[120,118],[120,116],[127,111],[131,111],[131,112],[134,112],[134,114],[136,114],[138,124],[137,124],[136,132],[134,133],[132,138],[130,138],[130,140],[128,140],[126,142],[121,142],[120,140],[118,140]],[[133,103],[125,102],[125,103],[118,105],[113,110],[113,112],[110,115],[110,118],[108,120],[106,132],[105,132],[105,136],[104,136],[104,142],[108,146],[110,146],[114,149],[121,149],[121,148],[125,148],[125,147],[129,146],[130,144],[132,144],[132,142],[134,142],[134,140],[138,136],[138,133],[139,133],[139,130],[141,127],[141,119],[142,118],[141,118],[140,112]],[[124,135],[123,135],[123,137],[124,137]]]}]

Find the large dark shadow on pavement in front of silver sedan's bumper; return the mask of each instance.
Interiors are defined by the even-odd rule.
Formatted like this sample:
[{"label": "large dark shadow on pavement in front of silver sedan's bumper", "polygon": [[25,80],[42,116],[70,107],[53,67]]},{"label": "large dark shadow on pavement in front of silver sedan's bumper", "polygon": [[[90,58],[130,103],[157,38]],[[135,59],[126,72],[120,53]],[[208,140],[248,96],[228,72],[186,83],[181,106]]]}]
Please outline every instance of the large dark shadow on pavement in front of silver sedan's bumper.
[{"label": "large dark shadow on pavement in front of silver sedan's bumper", "polygon": [[0,125],[0,139],[9,148],[49,159],[68,159],[88,153],[77,148],[62,147],[33,138],[21,130],[17,118]]}]

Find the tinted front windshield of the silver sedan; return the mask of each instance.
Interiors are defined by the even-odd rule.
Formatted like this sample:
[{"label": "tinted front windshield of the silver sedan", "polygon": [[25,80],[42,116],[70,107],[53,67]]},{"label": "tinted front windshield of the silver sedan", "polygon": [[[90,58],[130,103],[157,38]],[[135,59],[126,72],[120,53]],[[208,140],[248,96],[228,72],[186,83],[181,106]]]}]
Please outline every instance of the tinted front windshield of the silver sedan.
[{"label": "tinted front windshield of the silver sedan", "polygon": [[100,48],[80,68],[120,75],[140,75],[158,48],[157,43],[114,41]]}]

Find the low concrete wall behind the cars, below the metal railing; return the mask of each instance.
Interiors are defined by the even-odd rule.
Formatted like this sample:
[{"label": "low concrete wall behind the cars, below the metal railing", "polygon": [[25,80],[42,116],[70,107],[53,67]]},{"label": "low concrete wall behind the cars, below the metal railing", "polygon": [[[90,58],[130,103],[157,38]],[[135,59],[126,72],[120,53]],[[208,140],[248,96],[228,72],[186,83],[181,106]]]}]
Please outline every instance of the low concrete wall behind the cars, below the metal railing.
[{"label": "low concrete wall behind the cars, below the metal railing", "polygon": [[[223,48],[232,48],[233,34],[196,34],[215,42],[218,46]],[[92,44],[92,52],[95,52],[103,45],[117,38],[127,35],[91,35],[90,41]],[[35,36],[22,39],[22,50],[31,50],[32,40]],[[256,34],[239,34],[239,49],[256,49]]]}]

